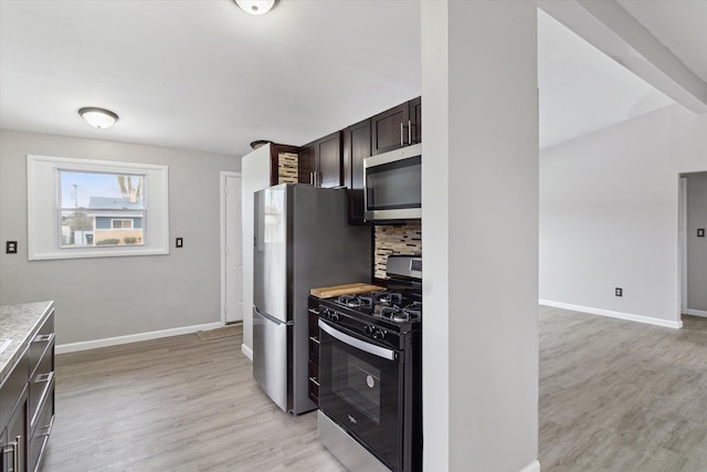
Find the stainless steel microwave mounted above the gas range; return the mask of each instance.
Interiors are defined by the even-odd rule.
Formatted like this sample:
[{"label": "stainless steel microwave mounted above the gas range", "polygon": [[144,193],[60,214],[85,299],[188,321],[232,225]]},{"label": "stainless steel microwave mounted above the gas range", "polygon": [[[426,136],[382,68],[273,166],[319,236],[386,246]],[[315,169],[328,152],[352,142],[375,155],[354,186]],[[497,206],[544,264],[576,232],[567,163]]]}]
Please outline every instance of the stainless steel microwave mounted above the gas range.
[{"label": "stainless steel microwave mounted above the gas range", "polygon": [[363,159],[366,221],[422,218],[422,144]]}]

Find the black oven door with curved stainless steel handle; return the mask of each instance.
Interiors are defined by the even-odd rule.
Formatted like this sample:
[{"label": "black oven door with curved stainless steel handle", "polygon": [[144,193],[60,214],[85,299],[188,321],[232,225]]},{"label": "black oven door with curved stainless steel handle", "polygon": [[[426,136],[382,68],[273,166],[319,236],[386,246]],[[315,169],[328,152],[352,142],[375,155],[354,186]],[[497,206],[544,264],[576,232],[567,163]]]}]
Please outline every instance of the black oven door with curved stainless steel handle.
[{"label": "black oven door with curved stainless steel handle", "polygon": [[402,448],[402,356],[319,319],[319,408],[393,471]]}]

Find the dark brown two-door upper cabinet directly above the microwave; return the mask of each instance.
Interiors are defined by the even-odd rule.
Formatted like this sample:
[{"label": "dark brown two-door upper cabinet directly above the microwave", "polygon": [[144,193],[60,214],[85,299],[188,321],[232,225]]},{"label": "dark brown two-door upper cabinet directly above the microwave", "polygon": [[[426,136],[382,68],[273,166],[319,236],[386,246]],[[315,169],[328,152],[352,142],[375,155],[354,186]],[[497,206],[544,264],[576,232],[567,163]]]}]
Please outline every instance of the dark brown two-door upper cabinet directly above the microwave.
[{"label": "dark brown two-door upper cabinet directly above the microwave", "polygon": [[371,155],[420,143],[422,138],[422,99],[394,106],[371,118]]}]

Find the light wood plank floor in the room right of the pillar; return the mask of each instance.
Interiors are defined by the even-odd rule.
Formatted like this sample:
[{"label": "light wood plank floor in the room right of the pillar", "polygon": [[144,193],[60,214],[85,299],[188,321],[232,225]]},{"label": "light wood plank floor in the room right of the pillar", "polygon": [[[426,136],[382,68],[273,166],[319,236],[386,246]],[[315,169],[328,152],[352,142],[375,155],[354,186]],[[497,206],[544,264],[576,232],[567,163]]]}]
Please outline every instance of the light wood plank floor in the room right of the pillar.
[{"label": "light wood plank floor in the room right of the pillar", "polygon": [[707,318],[683,329],[540,307],[544,472],[707,471]]}]

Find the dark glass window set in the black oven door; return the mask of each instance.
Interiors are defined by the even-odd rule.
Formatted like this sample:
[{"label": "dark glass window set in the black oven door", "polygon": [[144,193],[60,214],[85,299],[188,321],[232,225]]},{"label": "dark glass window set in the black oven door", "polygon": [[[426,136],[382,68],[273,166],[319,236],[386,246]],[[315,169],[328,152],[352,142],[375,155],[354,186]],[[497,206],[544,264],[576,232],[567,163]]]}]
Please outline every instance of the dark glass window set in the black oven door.
[{"label": "dark glass window set in the black oven door", "polygon": [[331,390],[380,424],[380,369],[336,348],[331,364]]}]

